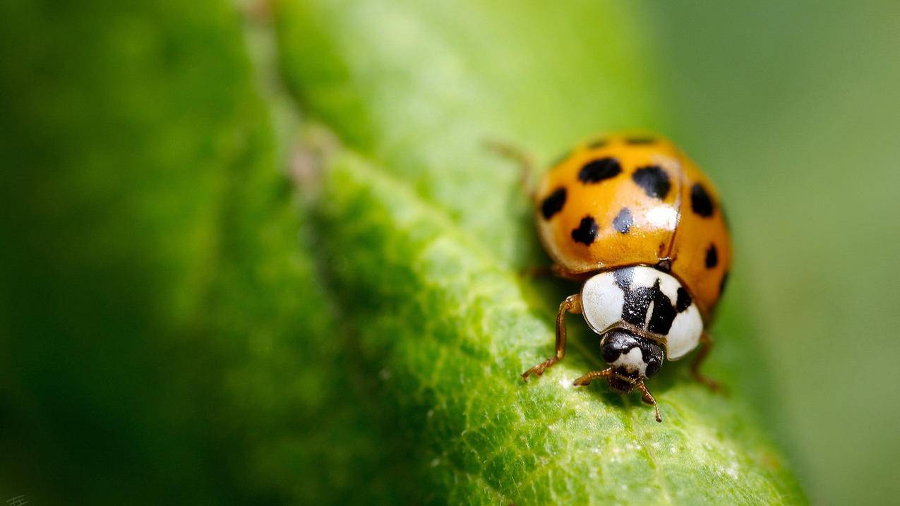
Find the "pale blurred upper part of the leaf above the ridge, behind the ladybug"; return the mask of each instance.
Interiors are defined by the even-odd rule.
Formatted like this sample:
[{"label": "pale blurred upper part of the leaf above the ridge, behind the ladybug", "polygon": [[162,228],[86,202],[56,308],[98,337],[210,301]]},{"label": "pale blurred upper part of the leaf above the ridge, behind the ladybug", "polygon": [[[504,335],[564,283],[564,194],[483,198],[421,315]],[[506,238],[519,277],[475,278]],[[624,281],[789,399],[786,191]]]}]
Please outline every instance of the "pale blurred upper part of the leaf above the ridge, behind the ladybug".
[{"label": "pale blurred upper part of the leaf above the ridge, behind the ladybug", "polygon": [[284,74],[304,112],[503,261],[534,260],[522,246],[536,242],[518,167],[486,156],[485,140],[550,162],[598,130],[659,122],[653,76],[633,64],[638,20],[616,5],[279,5]]}]

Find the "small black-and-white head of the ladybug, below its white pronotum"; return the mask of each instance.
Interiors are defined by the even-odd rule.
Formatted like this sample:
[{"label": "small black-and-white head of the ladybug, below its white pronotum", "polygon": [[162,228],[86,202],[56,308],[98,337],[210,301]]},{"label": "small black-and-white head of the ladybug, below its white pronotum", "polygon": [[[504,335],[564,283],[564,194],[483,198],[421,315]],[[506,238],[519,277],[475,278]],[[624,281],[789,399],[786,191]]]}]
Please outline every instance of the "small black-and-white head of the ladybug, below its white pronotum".
[{"label": "small black-and-white head of the ladybug, below its white pronotum", "polygon": [[621,393],[631,392],[644,378],[658,373],[664,357],[658,343],[622,329],[603,334],[600,353],[616,373],[608,376],[609,388]]}]

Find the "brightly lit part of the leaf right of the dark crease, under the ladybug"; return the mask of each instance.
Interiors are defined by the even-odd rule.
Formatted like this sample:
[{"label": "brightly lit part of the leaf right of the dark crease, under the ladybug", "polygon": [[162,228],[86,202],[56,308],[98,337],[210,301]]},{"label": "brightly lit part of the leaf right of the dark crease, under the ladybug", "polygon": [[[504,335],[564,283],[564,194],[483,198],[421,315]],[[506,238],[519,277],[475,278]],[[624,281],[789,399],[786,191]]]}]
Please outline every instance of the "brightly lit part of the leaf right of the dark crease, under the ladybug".
[{"label": "brightly lit part of the leaf right of the dark crease, under the ladybug", "polygon": [[743,400],[759,375],[739,365],[747,340],[719,335],[710,367],[732,397],[664,367],[652,385],[662,424],[636,398],[572,387],[602,366],[574,318],[565,360],[518,376],[551,353],[554,306],[578,288],[517,275],[546,260],[516,168],[480,145],[517,141],[549,159],[591,131],[661,125],[639,13],[301,1],[276,15],[290,86],[346,146],[322,175],[318,258],[361,354],[357,381],[392,413],[374,425],[413,463],[413,483],[396,484],[411,500],[805,501]]}]

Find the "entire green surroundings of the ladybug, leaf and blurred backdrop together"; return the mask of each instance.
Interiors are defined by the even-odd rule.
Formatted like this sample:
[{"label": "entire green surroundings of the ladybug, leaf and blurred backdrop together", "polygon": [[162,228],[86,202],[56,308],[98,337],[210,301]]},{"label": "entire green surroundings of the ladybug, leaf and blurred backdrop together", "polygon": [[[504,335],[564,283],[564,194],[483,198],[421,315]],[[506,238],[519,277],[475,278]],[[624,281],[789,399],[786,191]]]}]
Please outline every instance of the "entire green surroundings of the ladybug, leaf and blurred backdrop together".
[{"label": "entire green surroundings of the ladybug, leaf and blurred backdrop together", "polygon": [[[900,492],[900,8],[182,4],[0,8],[0,499]],[[507,382],[572,287],[516,276],[545,258],[479,140],[621,128],[680,143],[734,230],[732,396],[671,366],[662,426],[563,389],[583,332]]]}]

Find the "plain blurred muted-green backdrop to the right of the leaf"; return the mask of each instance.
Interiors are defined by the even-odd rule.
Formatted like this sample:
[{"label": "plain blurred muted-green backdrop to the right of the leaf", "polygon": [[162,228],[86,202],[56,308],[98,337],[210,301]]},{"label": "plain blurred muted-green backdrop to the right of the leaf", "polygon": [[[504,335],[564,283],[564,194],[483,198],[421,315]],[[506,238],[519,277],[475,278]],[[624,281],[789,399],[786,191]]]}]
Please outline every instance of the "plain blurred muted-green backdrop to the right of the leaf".
[{"label": "plain blurred muted-green backdrop to the right of the leaf", "polygon": [[646,6],[673,135],[728,199],[773,427],[814,502],[896,501],[900,5]]}]

